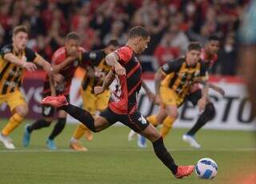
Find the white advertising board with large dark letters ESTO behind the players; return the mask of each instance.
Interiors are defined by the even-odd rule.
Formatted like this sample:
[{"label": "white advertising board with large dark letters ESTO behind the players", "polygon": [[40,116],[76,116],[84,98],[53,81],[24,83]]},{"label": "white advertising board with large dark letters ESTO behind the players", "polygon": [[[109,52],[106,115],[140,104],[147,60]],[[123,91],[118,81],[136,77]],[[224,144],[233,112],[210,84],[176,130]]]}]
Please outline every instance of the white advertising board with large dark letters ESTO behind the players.
[{"label": "white advertising board with large dark letters ESTO behind the players", "polygon": [[[154,81],[146,80],[146,84],[154,91]],[[246,98],[245,87],[242,82],[216,82],[225,91],[225,97],[210,90],[210,98],[214,102],[216,115],[212,121],[204,127],[206,129],[220,130],[256,130],[254,124],[255,117],[252,116],[250,102]],[[80,80],[74,78],[71,86],[70,102],[76,106],[82,106],[82,99],[78,97]],[[154,106],[146,98],[144,90],[138,100],[138,109],[145,116],[156,114],[158,106]],[[191,106],[190,102],[185,103],[179,109],[179,118],[174,123],[174,127],[191,127],[198,118],[198,108]],[[73,118],[68,117],[68,122],[77,122]]]}]

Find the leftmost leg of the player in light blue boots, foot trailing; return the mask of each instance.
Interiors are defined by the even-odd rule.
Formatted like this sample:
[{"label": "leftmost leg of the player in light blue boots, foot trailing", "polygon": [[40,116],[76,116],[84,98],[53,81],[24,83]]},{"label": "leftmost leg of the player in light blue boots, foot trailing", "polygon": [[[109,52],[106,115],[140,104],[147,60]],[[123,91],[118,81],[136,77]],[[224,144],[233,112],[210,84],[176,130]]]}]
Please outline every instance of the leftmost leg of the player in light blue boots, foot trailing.
[{"label": "leftmost leg of the player in light blue boots, foot trailing", "polygon": [[42,117],[32,124],[27,124],[24,129],[22,143],[27,147],[30,145],[31,134],[34,130],[39,130],[45,127],[49,127],[54,118],[54,107],[48,105],[42,105]]}]

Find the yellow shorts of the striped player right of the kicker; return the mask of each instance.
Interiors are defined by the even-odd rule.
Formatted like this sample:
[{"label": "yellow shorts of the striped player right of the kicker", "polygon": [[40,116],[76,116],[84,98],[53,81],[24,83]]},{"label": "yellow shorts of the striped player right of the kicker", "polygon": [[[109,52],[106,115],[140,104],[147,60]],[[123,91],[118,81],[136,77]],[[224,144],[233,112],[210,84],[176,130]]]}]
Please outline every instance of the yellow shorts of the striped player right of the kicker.
[{"label": "yellow shorts of the striped player right of the kicker", "polygon": [[181,106],[184,101],[174,90],[164,86],[160,86],[160,97],[164,106]]}]

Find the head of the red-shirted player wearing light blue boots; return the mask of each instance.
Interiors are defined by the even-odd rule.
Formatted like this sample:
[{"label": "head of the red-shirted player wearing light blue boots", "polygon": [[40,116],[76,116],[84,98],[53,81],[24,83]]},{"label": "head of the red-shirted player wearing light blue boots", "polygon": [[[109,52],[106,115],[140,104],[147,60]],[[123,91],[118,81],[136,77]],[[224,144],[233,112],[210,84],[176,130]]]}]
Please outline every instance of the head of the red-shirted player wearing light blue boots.
[{"label": "head of the red-shirted player wearing light blue boots", "polygon": [[70,32],[66,35],[65,47],[69,55],[74,55],[78,52],[80,46],[80,37],[75,32]]}]

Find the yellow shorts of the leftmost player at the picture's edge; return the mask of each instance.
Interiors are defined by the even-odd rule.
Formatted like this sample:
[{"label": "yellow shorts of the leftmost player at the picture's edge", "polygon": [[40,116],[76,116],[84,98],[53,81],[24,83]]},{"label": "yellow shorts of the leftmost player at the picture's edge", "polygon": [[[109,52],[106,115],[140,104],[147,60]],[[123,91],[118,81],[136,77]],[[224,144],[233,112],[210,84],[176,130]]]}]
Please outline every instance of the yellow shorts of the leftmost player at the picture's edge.
[{"label": "yellow shorts of the leftmost player at the picture's edge", "polygon": [[26,105],[26,100],[20,90],[15,90],[13,93],[0,94],[0,105],[6,102],[13,111],[17,106]]}]

